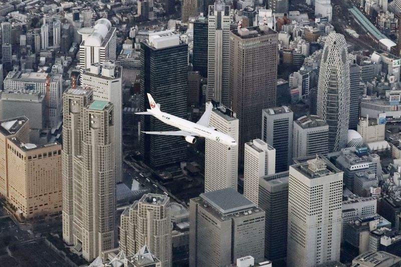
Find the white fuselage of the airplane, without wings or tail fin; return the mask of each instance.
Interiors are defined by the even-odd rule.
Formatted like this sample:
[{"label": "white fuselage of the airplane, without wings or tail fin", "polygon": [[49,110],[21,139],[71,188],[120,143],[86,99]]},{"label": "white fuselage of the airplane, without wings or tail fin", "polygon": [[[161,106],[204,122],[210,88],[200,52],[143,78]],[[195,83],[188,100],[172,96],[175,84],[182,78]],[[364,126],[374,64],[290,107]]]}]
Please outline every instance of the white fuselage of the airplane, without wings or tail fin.
[{"label": "white fuselage of the airplane, without wings or tail fin", "polygon": [[237,142],[235,139],[227,134],[219,132],[211,127],[206,127],[203,125],[199,125],[194,122],[190,122],[174,115],[162,112],[162,111],[154,111],[148,109],[147,112],[150,112],[154,117],[158,120],[164,122],[165,124],[174,126],[182,131],[190,133],[196,133],[200,137],[204,137],[206,139],[213,140],[215,142],[228,145],[228,146],[236,146]]}]

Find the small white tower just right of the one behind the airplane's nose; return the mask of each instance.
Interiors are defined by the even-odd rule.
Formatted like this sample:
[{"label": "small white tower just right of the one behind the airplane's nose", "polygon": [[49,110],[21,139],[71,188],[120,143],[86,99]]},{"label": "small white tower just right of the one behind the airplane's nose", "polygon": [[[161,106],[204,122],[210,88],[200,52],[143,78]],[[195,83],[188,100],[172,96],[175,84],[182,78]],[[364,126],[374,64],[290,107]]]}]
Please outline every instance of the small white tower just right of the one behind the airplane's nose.
[{"label": "small white tower just right of the one behind the airplane's nose", "polygon": [[260,139],[245,144],[244,196],[259,205],[259,178],[274,174],[276,149]]}]

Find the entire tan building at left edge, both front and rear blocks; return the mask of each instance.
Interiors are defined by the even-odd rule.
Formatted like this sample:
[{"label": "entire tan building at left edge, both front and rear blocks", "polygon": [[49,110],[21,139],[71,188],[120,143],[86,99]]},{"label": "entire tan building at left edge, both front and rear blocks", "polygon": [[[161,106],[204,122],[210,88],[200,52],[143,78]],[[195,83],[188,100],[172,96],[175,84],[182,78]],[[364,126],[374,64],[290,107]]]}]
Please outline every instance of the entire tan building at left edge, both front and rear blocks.
[{"label": "entire tan building at left edge, both front and rear blocks", "polygon": [[29,141],[27,117],[0,121],[0,194],[25,219],[62,210],[61,145]]}]

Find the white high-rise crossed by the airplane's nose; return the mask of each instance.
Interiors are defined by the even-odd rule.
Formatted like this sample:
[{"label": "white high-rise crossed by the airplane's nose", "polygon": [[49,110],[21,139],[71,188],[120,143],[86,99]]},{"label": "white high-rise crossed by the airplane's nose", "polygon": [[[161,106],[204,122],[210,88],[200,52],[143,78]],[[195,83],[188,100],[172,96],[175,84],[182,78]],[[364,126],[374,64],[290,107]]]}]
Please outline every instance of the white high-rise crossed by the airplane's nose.
[{"label": "white high-rise crossed by the airplane's nose", "polygon": [[[209,127],[215,127],[218,131],[230,135],[238,143],[239,120],[232,110],[224,106],[214,108],[210,116]],[[228,187],[237,190],[237,184],[238,146],[229,150],[224,144],[206,139],[205,192]]]}]

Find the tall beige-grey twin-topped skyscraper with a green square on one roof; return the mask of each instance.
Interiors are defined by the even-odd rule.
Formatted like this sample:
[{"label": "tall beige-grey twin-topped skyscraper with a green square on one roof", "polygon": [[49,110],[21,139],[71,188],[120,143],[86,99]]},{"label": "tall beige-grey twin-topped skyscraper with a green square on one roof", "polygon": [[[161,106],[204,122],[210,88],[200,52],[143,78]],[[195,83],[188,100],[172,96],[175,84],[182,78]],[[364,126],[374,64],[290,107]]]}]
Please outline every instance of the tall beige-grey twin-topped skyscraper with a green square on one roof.
[{"label": "tall beige-grey twin-topped skyscraper with a green square on one roof", "polygon": [[86,260],[114,248],[116,196],[113,104],[90,89],[64,93],[63,239]]}]

